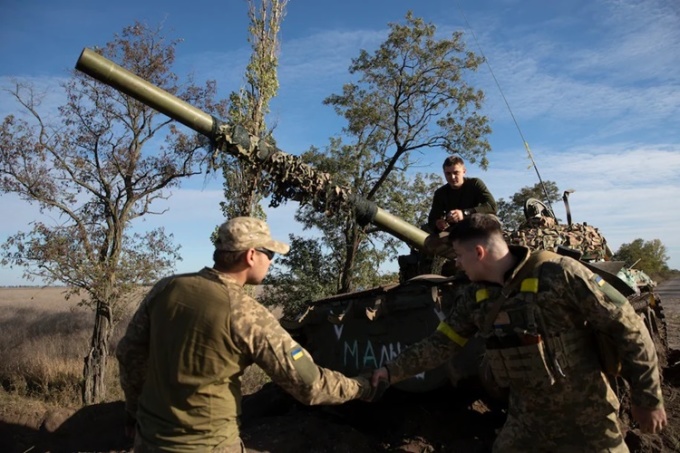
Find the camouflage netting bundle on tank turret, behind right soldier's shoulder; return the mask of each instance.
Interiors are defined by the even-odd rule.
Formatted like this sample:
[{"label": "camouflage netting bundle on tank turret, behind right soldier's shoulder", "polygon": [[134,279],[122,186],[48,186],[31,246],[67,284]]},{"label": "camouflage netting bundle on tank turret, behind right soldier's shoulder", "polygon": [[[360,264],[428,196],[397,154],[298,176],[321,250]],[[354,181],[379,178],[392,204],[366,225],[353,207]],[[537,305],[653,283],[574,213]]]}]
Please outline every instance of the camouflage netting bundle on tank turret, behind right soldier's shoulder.
[{"label": "camouflage netting bundle on tank turret, behind right soldier's shoulder", "polygon": [[599,230],[586,223],[560,225],[549,217],[532,218],[517,230],[504,232],[508,244],[524,245],[532,250],[555,251],[561,245],[583,253],[583,260],[611,259],[607,240]]}]

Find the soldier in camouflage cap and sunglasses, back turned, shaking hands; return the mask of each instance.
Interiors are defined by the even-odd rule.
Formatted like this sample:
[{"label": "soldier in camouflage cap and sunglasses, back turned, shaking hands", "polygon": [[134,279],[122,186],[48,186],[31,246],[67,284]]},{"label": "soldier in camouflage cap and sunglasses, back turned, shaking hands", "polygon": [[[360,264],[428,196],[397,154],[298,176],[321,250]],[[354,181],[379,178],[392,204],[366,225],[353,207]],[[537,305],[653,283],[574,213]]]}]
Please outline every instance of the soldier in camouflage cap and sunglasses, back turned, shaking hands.
[{"label": "soldier in camouflage cap and sunglasses, back turned, shaking hands", "polygon": [[288,250],[262,220],[237,217],[219,228],[213,268],[162,279],[147,294],[116,350],[135,451],[245,451],[241,375],[252,363],[305,404],[369,398],[367,378],[318,367],[243,291]]}]

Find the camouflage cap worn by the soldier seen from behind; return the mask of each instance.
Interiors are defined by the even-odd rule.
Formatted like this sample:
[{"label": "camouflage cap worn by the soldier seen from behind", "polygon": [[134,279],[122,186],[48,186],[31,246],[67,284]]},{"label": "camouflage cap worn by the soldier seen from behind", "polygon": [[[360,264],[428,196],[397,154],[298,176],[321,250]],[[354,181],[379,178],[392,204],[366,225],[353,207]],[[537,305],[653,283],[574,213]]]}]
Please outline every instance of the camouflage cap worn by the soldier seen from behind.
[{"label": "camouflage cap worn by the soldier seen from behind", "polygon": [[267,224],[254,217],[235,217],[220,225],[215,248],[226,252],[264,248],[282,255],[290,250],[288,244],[272,239]]}]

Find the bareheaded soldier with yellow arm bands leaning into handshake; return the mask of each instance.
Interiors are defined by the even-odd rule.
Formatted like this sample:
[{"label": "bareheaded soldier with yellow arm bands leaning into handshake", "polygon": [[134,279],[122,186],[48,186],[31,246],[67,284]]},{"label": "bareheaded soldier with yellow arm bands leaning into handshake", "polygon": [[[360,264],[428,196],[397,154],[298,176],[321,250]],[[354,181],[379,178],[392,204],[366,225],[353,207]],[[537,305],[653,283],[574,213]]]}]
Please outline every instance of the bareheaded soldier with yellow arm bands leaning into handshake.
[{"label": "bareheaded soldier with yellow arm bands leaning into handshake", "polygon": [[374,371],[374,385],[440,365],[479,332],[491,372],[510,395],[494,451],[628,451],[596,334],[621,358],[640,428],[663,429],[656,351],[625,297],[572,258],[508,247],[493,215],[463,219],[450,237],[472,283],[434,334]]}]

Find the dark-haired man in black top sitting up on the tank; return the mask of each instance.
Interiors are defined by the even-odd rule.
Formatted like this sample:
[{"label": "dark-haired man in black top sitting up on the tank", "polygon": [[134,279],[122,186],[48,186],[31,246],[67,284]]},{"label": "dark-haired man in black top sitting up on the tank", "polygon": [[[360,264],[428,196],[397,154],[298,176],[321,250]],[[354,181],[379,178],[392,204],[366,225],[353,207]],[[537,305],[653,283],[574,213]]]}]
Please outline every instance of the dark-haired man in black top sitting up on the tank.
[{"label": "dark-haired man in black top sitting up on the tank", "polygon": [[449,156],[442,164],[446,184],[434,192],[427,225],[430,233],[446,230],[473,213],[496,213],[496,200],[479,178],[466,178],[463,159]]}]

